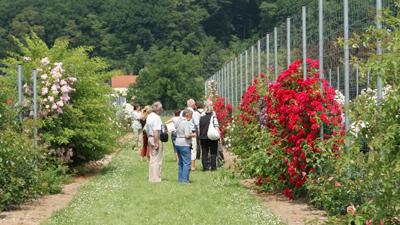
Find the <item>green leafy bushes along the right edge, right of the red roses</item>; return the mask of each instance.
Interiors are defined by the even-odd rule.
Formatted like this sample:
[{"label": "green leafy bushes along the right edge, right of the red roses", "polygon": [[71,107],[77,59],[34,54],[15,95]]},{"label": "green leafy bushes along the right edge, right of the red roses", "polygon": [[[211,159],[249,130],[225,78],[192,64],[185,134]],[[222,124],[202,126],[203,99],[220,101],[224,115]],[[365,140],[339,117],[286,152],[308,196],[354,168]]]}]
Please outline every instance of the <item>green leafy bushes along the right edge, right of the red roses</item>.
[{"label": "green leafy bushes along the right edge, right of the red roses", "polygon": [[[352,140],[349,152],[326,165],[322,176],[307,185],[312,202],[332,215],[346,214],[346,207],[351,204],[356,207],[355,213],[347,212],[344,217],[332,219],[333,223],[400,222],[399,12],[387,13],[384,21],[385,29],[371,29],[356,36],[352,46],[363,46],[375,52],[377,40],[382,41],[382,56],[372,54],[366,60],[355,60],[362,65],[363,71],[379,74],[384,83],[391,86],[390,91],[387,86],[380,101],[376,91],[367,91],[353,102],[350,120],[361,121],[367,126]],[[360,138],[370,148],[369,153],[359,152]],[[328,177],[334,177],[335,181],[328,181]],[[334,186],[336,181],[341,186]]]}]

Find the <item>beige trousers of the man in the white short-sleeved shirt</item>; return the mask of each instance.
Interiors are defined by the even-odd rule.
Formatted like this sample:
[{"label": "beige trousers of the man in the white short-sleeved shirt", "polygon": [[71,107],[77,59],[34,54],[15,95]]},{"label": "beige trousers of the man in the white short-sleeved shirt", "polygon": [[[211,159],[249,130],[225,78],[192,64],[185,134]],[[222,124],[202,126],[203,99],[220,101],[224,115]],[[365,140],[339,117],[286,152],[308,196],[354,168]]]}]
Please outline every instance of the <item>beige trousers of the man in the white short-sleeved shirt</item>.
[{"label": "beige trousers of the man in the white short-sleeved shirt", "polygon": [[154,146],[154,138],[149,137],[150,161],[149,161],[149,182],[161,182],[161,167],[163,157],[163,146],[156,150]]}]

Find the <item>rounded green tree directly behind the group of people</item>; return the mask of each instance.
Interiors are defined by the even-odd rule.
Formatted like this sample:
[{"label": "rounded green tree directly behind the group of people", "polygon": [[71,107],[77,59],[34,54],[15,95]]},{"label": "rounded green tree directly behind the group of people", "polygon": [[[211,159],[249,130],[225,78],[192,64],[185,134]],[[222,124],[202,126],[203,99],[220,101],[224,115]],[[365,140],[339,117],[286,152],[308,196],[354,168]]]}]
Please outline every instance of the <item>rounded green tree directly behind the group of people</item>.
[{"label": "rounded green tree directly behind the group of people", "polygon": [[198,74],[198,57],[171,48],[151,49],[153,58],[140,71],[139,78],[129,88],[128,99],[135,96],[141,105],[161,101],[166,109],[185,107],[188,98],[203,96],[203,78]]}]

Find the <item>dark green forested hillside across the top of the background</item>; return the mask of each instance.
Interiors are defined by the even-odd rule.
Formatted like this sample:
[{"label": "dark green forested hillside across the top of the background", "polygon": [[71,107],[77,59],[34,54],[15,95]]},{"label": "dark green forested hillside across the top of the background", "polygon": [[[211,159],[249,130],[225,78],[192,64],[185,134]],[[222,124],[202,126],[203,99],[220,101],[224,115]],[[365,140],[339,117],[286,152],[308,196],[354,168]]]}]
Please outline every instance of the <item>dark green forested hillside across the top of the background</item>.
[{"label": "dark green forested hillside across the top of the background", "polygon": [[[188,55],[183,61],[198,64],[190,76],[204,79],[228,57],[226,49],[242,48],[244,40],[265,34],[309,1],[1,0],[0,58],[15,50],[13,37],[35,32],[49,45],[67,38],[70,47],[92,46],[92,56],[105,58],[110,69],[124,73],[139,74],[146,64],[160,63],[159,54]],[[141,81],[138,85],[147,86]]]}]

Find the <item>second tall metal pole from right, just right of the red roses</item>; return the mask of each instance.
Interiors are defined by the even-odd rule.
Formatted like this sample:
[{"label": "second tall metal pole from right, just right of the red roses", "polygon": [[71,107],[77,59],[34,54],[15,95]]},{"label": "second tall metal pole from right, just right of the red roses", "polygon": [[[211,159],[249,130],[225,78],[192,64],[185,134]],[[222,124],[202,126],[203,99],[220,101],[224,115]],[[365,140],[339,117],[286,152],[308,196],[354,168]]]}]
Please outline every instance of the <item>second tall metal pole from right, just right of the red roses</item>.
[{"label": "second tall metal pole from right, just right of the red roses", "polygon": [[[344,0],[344,93],[345,93],[345,126],[346,132],[350,129],[349,118],[349,74],[350,74],[350,52],[349,52],[349,0]],[[346,147],[349,143],[346,140]]]}]

